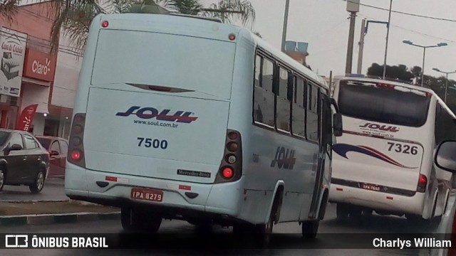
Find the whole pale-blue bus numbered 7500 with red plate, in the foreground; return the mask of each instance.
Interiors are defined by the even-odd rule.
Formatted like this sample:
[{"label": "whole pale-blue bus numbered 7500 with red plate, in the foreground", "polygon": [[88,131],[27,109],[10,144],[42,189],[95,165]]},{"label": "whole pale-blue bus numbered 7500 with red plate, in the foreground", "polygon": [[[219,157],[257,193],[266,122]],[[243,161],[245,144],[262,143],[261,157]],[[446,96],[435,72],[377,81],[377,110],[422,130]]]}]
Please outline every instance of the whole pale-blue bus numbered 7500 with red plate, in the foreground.
[{"label": "whole pale-blue bus numbered 7500 with red plate, in the foreground", "polygon": [[66,194],[162,219],[317,233],[332,111],[311,70],[244,28],[192,16],[110,14],[91,26],[76,92]]}]

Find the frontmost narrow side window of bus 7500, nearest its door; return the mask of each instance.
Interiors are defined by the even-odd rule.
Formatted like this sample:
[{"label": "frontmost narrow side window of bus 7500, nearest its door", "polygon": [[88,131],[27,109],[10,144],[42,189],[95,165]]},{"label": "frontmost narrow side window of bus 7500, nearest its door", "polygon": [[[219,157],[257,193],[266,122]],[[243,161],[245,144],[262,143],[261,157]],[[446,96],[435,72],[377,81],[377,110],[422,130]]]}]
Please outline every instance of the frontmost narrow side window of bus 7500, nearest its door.
[{"label": "frontmost narrow side window of bus 7500, nearest its door", "polygon": [[318,88],[308,85],[306,132],[307,138],[318,142]]}]

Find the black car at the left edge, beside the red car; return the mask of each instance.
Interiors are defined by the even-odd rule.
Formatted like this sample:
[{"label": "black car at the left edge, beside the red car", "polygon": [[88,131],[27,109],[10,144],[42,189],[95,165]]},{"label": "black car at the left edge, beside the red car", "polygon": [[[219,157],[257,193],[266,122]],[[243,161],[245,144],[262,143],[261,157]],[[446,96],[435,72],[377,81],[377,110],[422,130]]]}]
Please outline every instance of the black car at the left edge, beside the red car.
[{"label": "black car at the left edge, beside the red car", "polygon": [[26,185],[40,193],[49,168],[49,153],[32,134],[0,129],[0,191],[4,185]]}]

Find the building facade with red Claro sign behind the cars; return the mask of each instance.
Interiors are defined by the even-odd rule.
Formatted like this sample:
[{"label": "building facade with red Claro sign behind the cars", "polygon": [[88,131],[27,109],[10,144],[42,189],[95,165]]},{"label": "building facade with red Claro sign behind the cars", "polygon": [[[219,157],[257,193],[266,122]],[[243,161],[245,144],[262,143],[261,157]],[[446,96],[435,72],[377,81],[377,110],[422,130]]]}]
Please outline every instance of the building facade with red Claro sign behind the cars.
[{"label": "building facade with red Claro sign behind the cars", "polygon": [[81,56],[61,37],[51,48],[51,4],[20,6],[12,22],[0,19],[0,127],[17,129],[36,105],[35,135],[68,137]]}]

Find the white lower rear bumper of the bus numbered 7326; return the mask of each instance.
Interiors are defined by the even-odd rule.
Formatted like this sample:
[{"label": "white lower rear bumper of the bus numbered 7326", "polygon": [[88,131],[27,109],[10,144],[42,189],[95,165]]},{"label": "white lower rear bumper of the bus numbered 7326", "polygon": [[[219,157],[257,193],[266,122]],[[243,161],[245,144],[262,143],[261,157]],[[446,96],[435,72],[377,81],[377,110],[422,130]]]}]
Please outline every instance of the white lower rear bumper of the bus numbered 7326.
[{"label": "white lower rear bumper of the bus numbered 7326", "polygon": [[397,215],[407,213],[421,215],[424,198],[424,193],[415,193],[414,196],[400,196],[336,184],[331,184],[329,191],[330,203],[347,203]]}]

